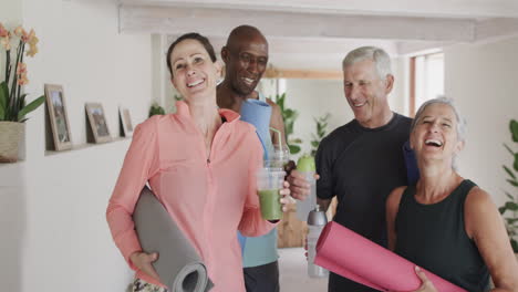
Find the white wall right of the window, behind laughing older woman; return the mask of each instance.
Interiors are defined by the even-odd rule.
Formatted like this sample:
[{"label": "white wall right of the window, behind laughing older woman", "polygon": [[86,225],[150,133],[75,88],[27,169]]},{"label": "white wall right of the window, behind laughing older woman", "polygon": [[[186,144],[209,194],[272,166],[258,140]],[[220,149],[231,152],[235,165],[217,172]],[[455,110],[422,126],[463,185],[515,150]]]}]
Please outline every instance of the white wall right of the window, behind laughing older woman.
[{"label": "white wall right of the window, behind laughing older woman", "polygon": [[518,38],[444,50],[445,94],[467,119],[460,174],[489,191],[498,205],[505,199],[503,189],[511,190],[501,165],[511,165],[503,143],[511,145],[508,123],[518,119],[516,52]]}]

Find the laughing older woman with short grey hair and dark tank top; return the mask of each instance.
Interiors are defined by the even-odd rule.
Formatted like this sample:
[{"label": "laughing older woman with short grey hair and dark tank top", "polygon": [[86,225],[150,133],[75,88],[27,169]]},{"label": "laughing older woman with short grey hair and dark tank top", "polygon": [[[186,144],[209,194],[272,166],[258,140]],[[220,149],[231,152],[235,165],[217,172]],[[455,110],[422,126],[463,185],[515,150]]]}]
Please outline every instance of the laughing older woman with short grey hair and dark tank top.
[{"label": "laughing older woman with short grey hair and dark tank top", "polygon": [[[464,123],[450,100],[424,103],[411,127],[421,178],[386,201],[388,247],[467,291],[518,291],[518,264],[489,194],[454,167],[464,147]],[[474,161],[476,163],[476,161]],[[437,291],[416,267],[423,284]]]}]

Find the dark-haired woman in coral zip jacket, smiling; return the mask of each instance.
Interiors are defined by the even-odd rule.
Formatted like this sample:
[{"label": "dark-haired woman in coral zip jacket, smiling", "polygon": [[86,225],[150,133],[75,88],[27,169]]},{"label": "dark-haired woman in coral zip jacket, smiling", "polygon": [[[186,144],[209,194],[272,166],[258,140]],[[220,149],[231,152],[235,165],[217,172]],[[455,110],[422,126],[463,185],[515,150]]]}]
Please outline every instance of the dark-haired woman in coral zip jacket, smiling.
[{"label": "dark-haired woman in coral zip jacket, smiling", "polygon": [[[112,236],[136,271],[134,289],[167,291],[152,265],[158,254],[143,252],[132,219],[149,182],[206,263],[211,291],[245,291],[236,232],[256,237],[274,227],[261,218],[256,190],[261,144],[253,126],[237,113],[218,109],[221,67],[205,36],[178,38],[169,46],[167,65],[184,101],[176,114],[153,116],[136,127],[106,211]],[[280,194],[289,195],[288,182]]]}]

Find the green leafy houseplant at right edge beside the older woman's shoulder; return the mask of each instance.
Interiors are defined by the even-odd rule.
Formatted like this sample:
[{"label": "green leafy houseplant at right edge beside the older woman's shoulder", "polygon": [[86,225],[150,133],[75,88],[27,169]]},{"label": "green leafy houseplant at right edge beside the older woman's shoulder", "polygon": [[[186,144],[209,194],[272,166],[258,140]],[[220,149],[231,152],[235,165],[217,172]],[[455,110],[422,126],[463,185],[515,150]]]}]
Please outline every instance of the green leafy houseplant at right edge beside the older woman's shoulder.
[{"label": "green leafy houseplant at right edge beside the older woman's shoulder", "polygon": [[[511,119],[509,122],[509,129],[511,132],[511,139],[515,145],[518,143],[518,122]],[[511,154],[512,166],[508,167],[504,165],[504,170],[507,173],[508,178],[506,179],[511,187],[516,190],[518,188],[518,152],[514,152],[511,147],[504,144],[504,147]],[[510,243],[515,253],[518,253],[518,242],[516,237],[518,236],[518,196],[506,191],[507,201],[498,208],[500,213],[504,216],[506,222],[507,233],[509,234]],[[505,215],[508,215],[507,217]]]}]

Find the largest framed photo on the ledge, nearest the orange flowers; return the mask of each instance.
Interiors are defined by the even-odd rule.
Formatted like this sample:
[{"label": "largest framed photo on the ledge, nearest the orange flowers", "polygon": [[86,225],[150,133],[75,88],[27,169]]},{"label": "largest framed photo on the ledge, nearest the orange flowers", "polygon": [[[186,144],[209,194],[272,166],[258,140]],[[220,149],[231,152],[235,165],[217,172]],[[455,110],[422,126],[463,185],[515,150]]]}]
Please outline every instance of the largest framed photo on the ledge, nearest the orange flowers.
[{"label": "largest framed photo on the ledge, nearest the orange flowers", "polygon": [[66,115],[66,103],[63,94],[63,86],[45,84],[45,98],[54,149],[60,152],[72,148],[72,138],[70,135],[70,124],[69,116]]}]

